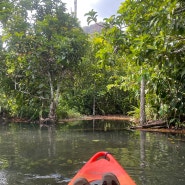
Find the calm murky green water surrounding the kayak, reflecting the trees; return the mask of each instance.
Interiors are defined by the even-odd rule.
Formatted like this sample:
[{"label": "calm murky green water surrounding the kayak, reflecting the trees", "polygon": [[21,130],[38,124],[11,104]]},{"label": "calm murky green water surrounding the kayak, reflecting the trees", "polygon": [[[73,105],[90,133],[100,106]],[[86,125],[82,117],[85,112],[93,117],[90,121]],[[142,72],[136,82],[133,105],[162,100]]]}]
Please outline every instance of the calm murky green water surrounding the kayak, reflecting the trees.
[{"label": "calm murky green water surrounding the kayak, reflecting the trees", "polygon": [[0,125],[0,185],[67,185],[109,151],[138,185],[185,184],[185,136],[125,130],[121,121]]}]

